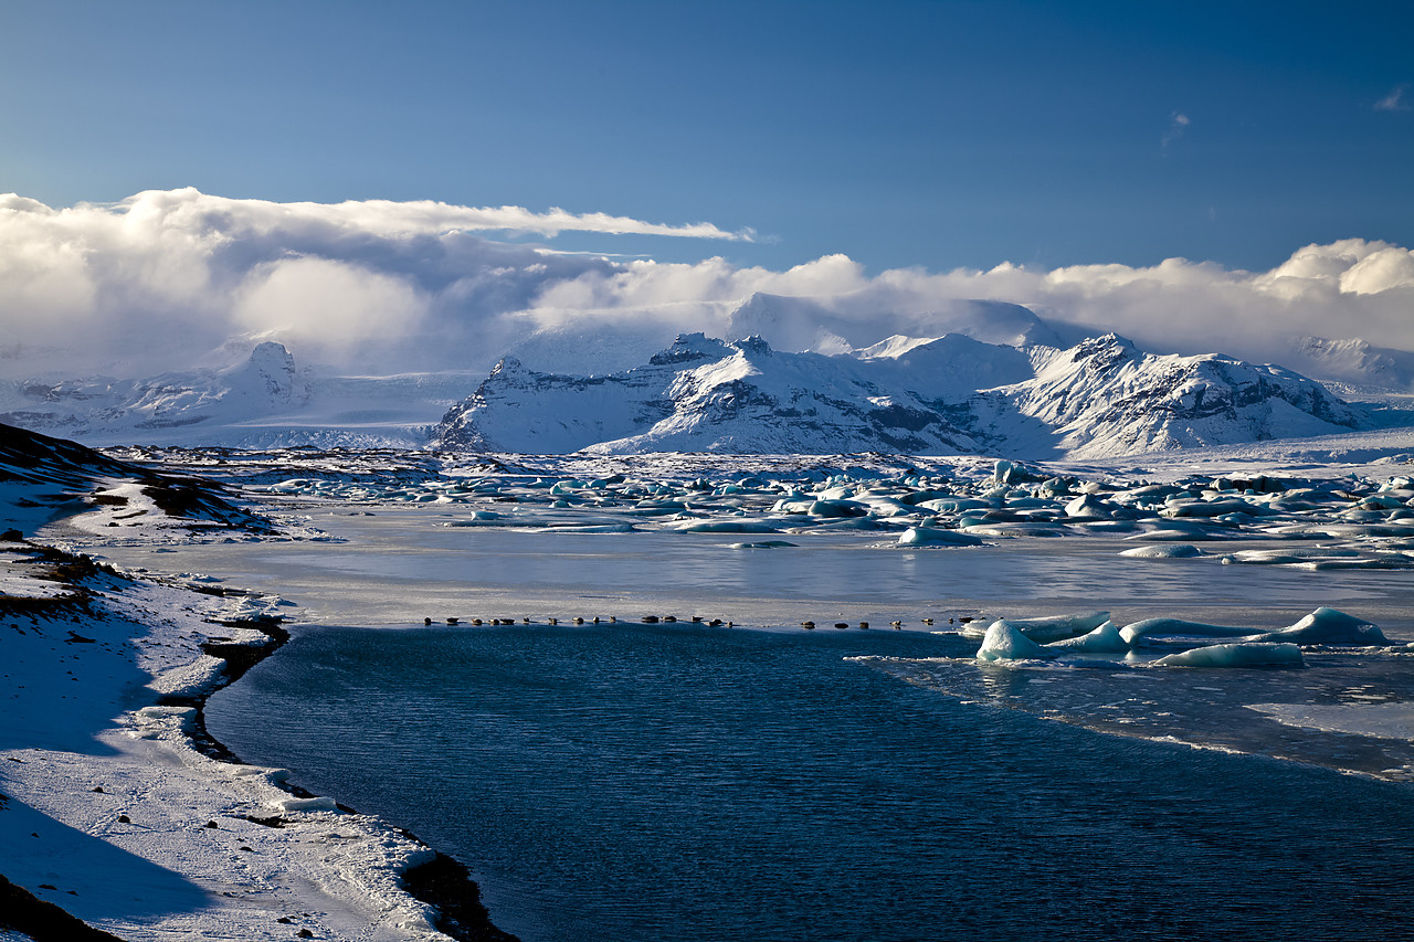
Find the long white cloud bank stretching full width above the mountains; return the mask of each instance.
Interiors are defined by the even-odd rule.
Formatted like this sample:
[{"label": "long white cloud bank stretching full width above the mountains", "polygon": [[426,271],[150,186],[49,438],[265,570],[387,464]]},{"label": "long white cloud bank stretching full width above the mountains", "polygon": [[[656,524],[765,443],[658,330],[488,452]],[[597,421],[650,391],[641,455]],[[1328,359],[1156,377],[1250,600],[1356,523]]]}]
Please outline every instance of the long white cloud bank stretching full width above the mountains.
[{"label": "long white cloud bank stretching full width above the mountains", "polygon": [[0,371],[150,375],[225,365],[259,339],[284,342],[301,362],[382,373],[479,371],[508,349],[557,342],[636,362],[679,331],[730,334],[731,313],[756,293],[807,298],[799,310],[870,342],[942,332],[957,304],[978,298],[1114,330],[1155,352],[1280,362],[1298,335],[1414,349],[1414,253],[1377,240],[1309,245],[1270,272],[1169,259],[870,274],[846,256],[783,272],[720,257],[625,263],[472,235],[570,229],[749,238],[711,223],[437,202],[177,190],[52,209],[11,194],[0,197]]}]

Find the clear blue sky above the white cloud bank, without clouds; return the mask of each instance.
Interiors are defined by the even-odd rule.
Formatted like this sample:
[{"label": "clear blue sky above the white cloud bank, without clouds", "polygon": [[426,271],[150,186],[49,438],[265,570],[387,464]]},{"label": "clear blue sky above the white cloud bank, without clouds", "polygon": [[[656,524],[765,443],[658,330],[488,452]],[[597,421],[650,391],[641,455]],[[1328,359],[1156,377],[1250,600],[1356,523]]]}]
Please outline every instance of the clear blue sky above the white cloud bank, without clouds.
[{"label": "clear blue sky above the white cloud bank, without clouds", "polygon": [[563,207],[878,272],[1414,246],[1414,4],[7,3],[0,191]]}]

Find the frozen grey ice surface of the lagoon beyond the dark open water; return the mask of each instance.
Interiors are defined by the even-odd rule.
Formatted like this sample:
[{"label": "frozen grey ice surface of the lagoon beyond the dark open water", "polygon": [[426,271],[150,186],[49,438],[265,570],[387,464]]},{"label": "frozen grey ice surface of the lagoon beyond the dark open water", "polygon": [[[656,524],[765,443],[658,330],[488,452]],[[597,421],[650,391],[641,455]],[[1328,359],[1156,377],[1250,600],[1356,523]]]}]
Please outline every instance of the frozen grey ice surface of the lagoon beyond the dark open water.
[{"label": "frozen grey ice surface of the lagoon beyond the dark open water", "polygon": [[[857,632],[863,621],[892,634],[899,621],[899,634],[926,634],[936,653],[885,648],[870,665],[947,696],[1107,733],[1414,779],[1414,651],[1308,649],[1301,670],[1157,670],[1093,656],[978,665],[977,639],[935,634],[962,628],[949,618],[986,624],[1094,608],[1111,611],[1117,624],[1181,615],[1258,634],[1328,604],[1360,612],[1403,642],[1414,636],[1414,580],[1406,573],[1131,560],[1117,556],[1128,546],[1123,539],[1103,535],[918,550],[847,532],[796,536],[795,547],[765,550],[734,549],[734,535],[450,528],[443,523],[455,515],[438,508],[356,513],[325,509],[314,519],[338,542],[208,543],[184,547],[181,559],[233,586],[293,598],[301,618],[361,628],[411,628],[433,618],[447,631],[444,621],[454,617],[462,627],[479,618],[488,622],[481,629],[492,631],[492,620],[626,624],[652,614],[779,632],[802,632],[806,621],[820,625],[816,631],[843,622]],[[106,552],[126,564],[163,563],[153,550]],[[1138,689],[1147,693],[1135,696]],[[1244,709],[1278,702],[1288,707]],[[1343,707],[1340,731],[1329,719],[1307,723],[1302,704]]]}]

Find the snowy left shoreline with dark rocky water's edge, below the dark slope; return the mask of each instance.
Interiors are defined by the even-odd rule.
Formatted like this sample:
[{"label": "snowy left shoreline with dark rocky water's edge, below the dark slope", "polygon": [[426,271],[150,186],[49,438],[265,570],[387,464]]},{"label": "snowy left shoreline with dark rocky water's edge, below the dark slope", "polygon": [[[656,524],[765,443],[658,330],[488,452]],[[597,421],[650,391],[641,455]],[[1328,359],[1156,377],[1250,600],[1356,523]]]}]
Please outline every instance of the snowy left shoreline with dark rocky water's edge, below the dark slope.
[{"label": "snowy left shoreline with dark rocky water's edge, below the dark slope", "polygon": [[[279,911],[303,911],[303,921],[311,917],[321,919],[311,922],[324,929],[317,938],[365,936],[369,931],[373,932],[372,938],[428,938],[427,932],[433,931],[440,934],[438,938],[460,942],[516,942],[516,936],[491,922],[481,901],[479,885],[462,863],[433,849],[406,829],[376,816],[361,815],[334,798],[317,796],[286,781],[287,772],[283,769],[262,769],[246,764],[206,730],[205,703],[209,696],[235,683],[288,641],[290,632],[281,627],[283,618],[269,614],[222,618],[215,611],[219,604],[215,600],[228,595],[245,598],[245,593],[208,586],[177,586],[170,577],[124,574],[82,552],[48,545],[48,540],[11,537],[8,542],[11,562],[18,560],[33,569],[33,573],[27,571],[21,578],[27,584],[45,587],[58,581],[59,594],[25,597],[6,593],[0,604],[0,615],[6,617],[8,628],[23,636],[11,639],[13,645],[18,645],[18,655],[14,663],[6,666],[6,678],[13,686],[11,700],[25,697],[6,717],[11,720],[11,728],[4,741],[0,741],[0,754],[8,762],[18,764],[6,764],[4,771],[8,774],[4,778],[4,793],[0,795],[0,825],[10,829],[7,836],[16,842],[11,846],[17,851],[7,859],[4,867],[10,890],[6,891],[6,911],[0,914],[0,926],[35,939],[81,938],[68,931],[76,925],[65,918],[71,917],[92,931],[89,938],[184,938],[192,931],[211,931],[212,921],[259,919],[259,912],[223,908],[230,904],[223,904],[219,897],[263,892],[280,897],[270,911],[270,919],[288,924],[291,931],[301,918],[276,918]],[[202,603],[201,597],[208,601]],[[146,608],[154,601],[157,607]],[[78,631],[69,628],[69,638],[62,639],[61,628],[69,624]],[[214,634],[209,629],[212,625],[225,628],[226,634]],[[47,651],[40,651],[41,648]],[[185,656],[174,656],[170,651],[173,648],[182,651]],[[27,661],[27,655],[37,651],[40,656]],[[123,675],[119,678],[123,683],[116,685],[109,678],[106,687],[81,685],[74,689],[72,697],[81,703],[61,703],[54,709],[57,700],[71,700],[68,693],[59,693],[64,687],[55,683],[57,679],[64,679],[62,675],[57,676],[55,668],[65,663],[72,663],[72,668],[64,673],[78,672],[72,676],[74,680],[81,676],[89,680],[95,668],[116,668]],[[65,724],[65,710],[82,716]],[[99,719],[113,716],[113,711],[117,713],[116,717]],[[82,745],[85,741],[89,745]],[[187,758],[184,751],[201,760]],[[205,767],[205,762],[216,765]],[[171,764],[189,774],[164,774],[164,768]],[[74,779],[102,784],[75,788]],[[115,785],[117,781],[122,786]],[[163,802],[161,798],[154,798],[151,792],[158,791],[158,782],[174,788],[178,801]],[[223,785],[228,788],[223,789]],[[290,801],[273,799],[269,793],[271,786]],[[109,805],[106,799],[122,791],[130,792],[129,798],[136,806],[120,803],[119,808],[124,810],[122,815],[99,808]],[[184,808],[185,805],[194,805],[195,810]],[[252,805],[256,808],[252,809]],[[276,805],[271,808],[274,813],[259,810],[271,805]],[[143,830],[185,844],[199,843],[192,840],[189,823],[197,812],[206,820],[199,826],[205,829],[205,835],[236,836],[242,829],[264,832],[260,835],[263,840],[255,835],[238,837],[246,840],[239,847],[245,853],[238,856],[249,860],[256,853],[267,854],[262,860],[260,877],[269,885],[255,888],[262,881],[252,880],[245,887],[239,878],[240,864],[219,866],[209,847],[171,847],[160,837],[156,850],[139,850],[132,857],[133,851],[124,846],[129,843],[124,839],[133,837],[133,829],[139,825],[127,823],[129,812],[133,819],[140,815],[153,819],[156,826],[144,822]],[[341,826],[341,830],[352,829],[354,837],[345,840],[358,839],[362,843],[355,846],[354,853],[342,857],[320,857],[318,851],[310,854],[307,847],[322,839],[315,829],[327,825]],[[33,836],[40,836],[41,832],[49,835],[51,829],[57,829],[55,833],[62,840],[59,844],[21,846],[18,837],[30,837],[31,829],[35,832]],[[115,830],[119,833],[115,835]],[[76,843],[78,847],[61,846],[65,842]],[[102,868],[82,867],[76,859],[82,853],[132,859],[134,870],[156,867],[158,870],[153,873],[160,877],[139,874],[132,877],[133,885],[123,880],[106,880],[102,890],[98,890],[92,884],[103,876],[99,873]],[[191,859],[191,853],[198,854],[198,859]],[[219,894],[215,888],[202,890],[206,883],[199,876],[202,870],[216,874],[215,880],[230,888]],[[143,898],[151,890],[141,885],[144,877],[165,884],[164,891],[182,891],[189,911],[161,909],[160,919],[154,918],[157,909],[148,917],[126,914],[124,909],[134,909],[130,901]],[[366,894],[369,898],[362,898],[363,894],[358,892],[361,877],[372,880]],[[37,892],[41,895],[35,895]],[[395,898],[399,892],[407,898],[407,904]],[[82,902],[75,902],[66,894],[79,897]],[[102,901],[95,904],[93,897],[110,897],[113,904],[105,908]],[[122,902],[117,901],[119,897]],[[321,915],[320,909],[331,901],[345,905],[335,905]],[[311,908],[314,912],[310,912]],[[359,926],[356,919],[361,914],[370,922]],[[379,917],[387,917],[387,921]],[[95,925],[95,919],[99,925]],[[331,932],[331,922],[348,925],[342,934]],[[171,924],[185,928],[168,928]],[[284,926],[221,928],[245,938],[266,934],[280,938],[277,932]],[[301,935],[305,932],[308,929],[301,929]]]}]

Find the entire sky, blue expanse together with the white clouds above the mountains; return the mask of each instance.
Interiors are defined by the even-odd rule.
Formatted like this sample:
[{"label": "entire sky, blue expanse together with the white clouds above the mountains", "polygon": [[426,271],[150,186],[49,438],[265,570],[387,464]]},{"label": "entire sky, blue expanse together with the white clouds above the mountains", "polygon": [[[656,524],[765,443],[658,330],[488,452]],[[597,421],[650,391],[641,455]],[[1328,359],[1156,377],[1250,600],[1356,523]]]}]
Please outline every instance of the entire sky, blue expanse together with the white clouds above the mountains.
[{"label": "entire sky, blue expanse together with the white clouds above the mountains", "polygon": [[[11,351],[99,324],[310,339],[328,298],[363,338],[575,304],[710,325],[682,311],[902,272],[1174,349],[1243,311],[1414,347],[1408,3],[52,0],[0,33]],[[1308,246],[1387,297],[1225,294],[1164,339]]]}]

